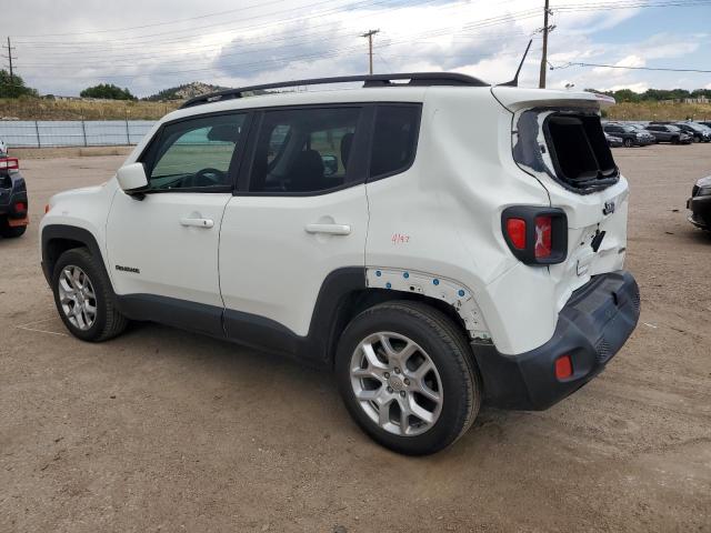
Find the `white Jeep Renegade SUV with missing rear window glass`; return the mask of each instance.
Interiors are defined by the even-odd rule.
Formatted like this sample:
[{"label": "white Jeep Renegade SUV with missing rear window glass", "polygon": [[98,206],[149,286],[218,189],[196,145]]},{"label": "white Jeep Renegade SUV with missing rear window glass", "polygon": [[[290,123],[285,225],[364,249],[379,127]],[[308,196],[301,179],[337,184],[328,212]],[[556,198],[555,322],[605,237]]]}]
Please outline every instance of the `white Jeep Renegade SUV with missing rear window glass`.
[{"label": "white Jeep Renegade SUV with missing rear window glass", "polygon": [[560,401],[637,325],[601,98],[450,73],[199,97],[52,198],[43,271],[79,339],[150,320],[330,368],[368,434],[432,453],[482,402]]}]

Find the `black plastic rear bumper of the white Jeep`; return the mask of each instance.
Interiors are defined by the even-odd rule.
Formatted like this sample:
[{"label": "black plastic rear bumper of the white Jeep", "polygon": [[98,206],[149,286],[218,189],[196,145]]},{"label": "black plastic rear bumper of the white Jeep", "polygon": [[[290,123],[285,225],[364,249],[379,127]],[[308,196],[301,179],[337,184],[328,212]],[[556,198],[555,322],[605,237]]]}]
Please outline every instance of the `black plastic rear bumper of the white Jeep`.
[{"label": "black plastic rear bumper of the white Jeep", "polygon": [[[555,332],[542,346],[519,355],[474,344],[484,401],[492,406],[543,410],[599,374],[628,340],[640,315],[637,282],[627,271],[594,276],[561,310]],[[555,360],[572,359],[573,374],[555,378]]]}]

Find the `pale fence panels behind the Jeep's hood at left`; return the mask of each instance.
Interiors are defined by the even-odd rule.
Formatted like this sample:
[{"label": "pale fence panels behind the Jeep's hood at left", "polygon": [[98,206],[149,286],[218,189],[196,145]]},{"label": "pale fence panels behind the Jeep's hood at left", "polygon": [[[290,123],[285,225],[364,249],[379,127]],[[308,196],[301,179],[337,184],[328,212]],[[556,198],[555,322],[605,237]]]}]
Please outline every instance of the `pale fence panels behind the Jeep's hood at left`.
[{"label": "pale fence panels behind the Jeep's hood at left", "polygon": [[0,121],[8,148],[117,147],[138,144],[152,120]]}]

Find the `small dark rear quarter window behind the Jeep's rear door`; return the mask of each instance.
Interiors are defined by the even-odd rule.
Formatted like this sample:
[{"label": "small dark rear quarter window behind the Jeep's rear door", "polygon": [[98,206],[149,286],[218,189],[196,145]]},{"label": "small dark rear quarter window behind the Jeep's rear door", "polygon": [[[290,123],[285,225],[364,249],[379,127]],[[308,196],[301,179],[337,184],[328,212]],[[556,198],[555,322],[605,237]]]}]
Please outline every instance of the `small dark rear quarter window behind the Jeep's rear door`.
[{"label": "small dark rear quarter window behind the Jeep's rear door", "polygon": [[414,160],[420,105],[378,105],[370,158],[371,179],[404,172]]}]

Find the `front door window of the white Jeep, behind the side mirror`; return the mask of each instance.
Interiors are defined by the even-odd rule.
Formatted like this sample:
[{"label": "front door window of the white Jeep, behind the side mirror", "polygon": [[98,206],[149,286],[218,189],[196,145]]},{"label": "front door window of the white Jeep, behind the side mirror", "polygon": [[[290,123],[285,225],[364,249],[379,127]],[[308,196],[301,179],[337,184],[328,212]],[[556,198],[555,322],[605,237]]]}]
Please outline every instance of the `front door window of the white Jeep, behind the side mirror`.
[{"label": "front door window of the white Jeep, behind the side mirror", "polygon": [[169,124],[152,153],[149,190],[224,189],[246,114],[202,117]]}]

